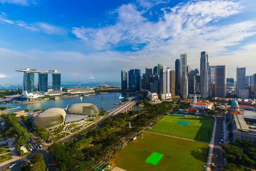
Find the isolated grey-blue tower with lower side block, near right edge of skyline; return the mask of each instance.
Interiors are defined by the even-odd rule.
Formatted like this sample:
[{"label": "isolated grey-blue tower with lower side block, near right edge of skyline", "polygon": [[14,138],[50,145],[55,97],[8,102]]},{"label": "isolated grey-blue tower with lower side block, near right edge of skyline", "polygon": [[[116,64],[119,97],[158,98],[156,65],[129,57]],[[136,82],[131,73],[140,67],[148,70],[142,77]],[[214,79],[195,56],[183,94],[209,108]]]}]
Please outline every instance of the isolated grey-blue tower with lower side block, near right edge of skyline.
[{"label": "isolated grey-blue tower with lower side block, near right edge of skyline", "polygon": [[246,67],[236,68],[236,96],[240,97],[239,90],[246,90],[245,86]]}]

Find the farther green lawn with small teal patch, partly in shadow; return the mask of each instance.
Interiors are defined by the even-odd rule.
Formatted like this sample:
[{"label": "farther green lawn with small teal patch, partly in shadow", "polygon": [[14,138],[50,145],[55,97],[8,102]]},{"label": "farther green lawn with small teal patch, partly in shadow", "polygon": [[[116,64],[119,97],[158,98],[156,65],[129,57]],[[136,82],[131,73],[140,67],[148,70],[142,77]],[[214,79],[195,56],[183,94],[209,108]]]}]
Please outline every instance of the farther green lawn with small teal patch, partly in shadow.
[{"label": "farther green lawn with small teal patch, partly in shadow", "polygon": [[[214,125],[214,122],[210,121],[210,119],[212,118],[195,119],[185,118],[184,116],[164,116],[157,121],[157,124],[151,130],[147,131],[209,143]],[[189,124],[187,126],[177,125],[178,122],[189,122]]]}]

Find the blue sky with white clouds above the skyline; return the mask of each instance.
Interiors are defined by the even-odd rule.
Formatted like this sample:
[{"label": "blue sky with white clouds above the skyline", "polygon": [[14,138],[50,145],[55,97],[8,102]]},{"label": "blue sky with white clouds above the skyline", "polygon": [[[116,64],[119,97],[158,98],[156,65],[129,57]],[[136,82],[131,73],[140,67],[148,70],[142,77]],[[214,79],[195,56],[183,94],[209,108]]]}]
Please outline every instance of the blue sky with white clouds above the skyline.
[{"label": "blue sky with white clouds above the skyline", "polygon": [[119,81],[120,71],[210,65],[256,73],[255,0],[0,0],[0,84],[16,69],[59,70],[62,81]]}]

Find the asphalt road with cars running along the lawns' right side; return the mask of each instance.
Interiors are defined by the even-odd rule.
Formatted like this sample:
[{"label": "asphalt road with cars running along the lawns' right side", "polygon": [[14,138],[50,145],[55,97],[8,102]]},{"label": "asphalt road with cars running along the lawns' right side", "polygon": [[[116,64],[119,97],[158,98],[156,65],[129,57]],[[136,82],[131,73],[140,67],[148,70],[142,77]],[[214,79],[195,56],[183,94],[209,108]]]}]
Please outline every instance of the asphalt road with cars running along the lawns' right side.
[{"label": "asphalt road with cars running along the lawns' right side", "polygon": [[[215,116],[216,119],[216,131],[215,131],[215,139],[214,139],[214,148],[213,148],[213,156],[212,162],[215,163],[215,168],[212,168],[212,171],[221,171],[224,167],[224,161],[222,156],[221,139],[224,139],[223,136],[223,116]],[[221,135],[222,134],[222,135]],[[217,156],[218,157],[217,157]]]}]

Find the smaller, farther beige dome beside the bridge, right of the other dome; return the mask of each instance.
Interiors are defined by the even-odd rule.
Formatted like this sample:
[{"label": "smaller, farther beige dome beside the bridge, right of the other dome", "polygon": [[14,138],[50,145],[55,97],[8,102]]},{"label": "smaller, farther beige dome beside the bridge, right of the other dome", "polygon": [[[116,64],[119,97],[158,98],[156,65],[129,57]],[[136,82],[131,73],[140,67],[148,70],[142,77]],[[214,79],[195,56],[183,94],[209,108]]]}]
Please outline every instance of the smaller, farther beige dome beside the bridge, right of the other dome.
[{"label": "smaller, farther beige dome beside the bridge, right of the other dome", "polygon": [[77,115],[98,115],[99,110],[94,104],[90,103],[78,103],[78,104],[72,104],[70,107],[67,108],[67,113],[70,114],[77,114]]}]

